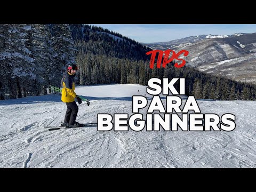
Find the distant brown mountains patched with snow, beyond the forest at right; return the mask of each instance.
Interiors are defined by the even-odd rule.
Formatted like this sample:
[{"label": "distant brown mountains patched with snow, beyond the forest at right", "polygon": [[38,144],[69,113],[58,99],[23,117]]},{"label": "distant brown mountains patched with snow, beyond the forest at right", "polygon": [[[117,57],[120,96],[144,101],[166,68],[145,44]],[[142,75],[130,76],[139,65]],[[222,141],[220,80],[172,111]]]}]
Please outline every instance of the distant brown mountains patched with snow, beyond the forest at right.
[{"label": "distant brown mountains patched with snow, beyond the forest at right", "polygon": [[256,83],[256,33],[221,38],[192,36],[147,46],[159,50],[187,50],[189,54],[183,58],[187,66],[237,81]]}]

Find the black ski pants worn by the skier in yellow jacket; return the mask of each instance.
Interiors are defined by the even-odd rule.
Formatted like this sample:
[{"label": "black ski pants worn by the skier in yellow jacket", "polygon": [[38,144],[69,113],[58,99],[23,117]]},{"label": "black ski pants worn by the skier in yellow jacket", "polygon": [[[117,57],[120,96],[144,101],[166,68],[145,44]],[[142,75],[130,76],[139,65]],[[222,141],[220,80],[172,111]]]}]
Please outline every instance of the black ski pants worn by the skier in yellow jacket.
[{"label": "black ski pants worn by the skier in yellow jacket", "polygon": [[68,123],[69,125],[74,125],[76,123],[76,116],[78,113],[78,106],[76,101],[66,103],[68,109],[66,111],[64,123]]}]

